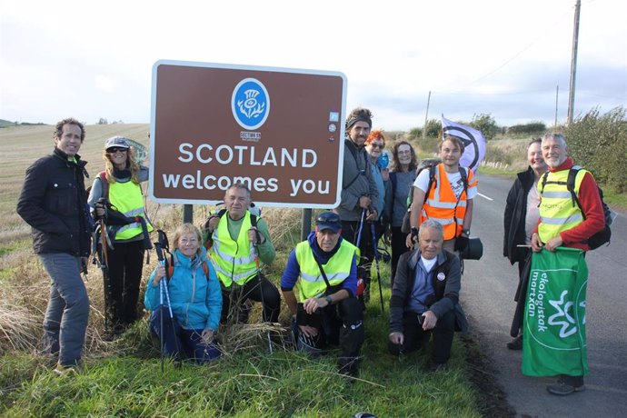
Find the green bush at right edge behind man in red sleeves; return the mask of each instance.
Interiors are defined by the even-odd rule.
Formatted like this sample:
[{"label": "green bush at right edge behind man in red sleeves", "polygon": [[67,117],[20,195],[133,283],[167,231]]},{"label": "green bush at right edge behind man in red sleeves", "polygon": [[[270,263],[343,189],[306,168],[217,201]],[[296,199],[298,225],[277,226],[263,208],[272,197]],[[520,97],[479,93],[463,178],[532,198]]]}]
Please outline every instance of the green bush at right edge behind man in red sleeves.
[{"label": "green bush at right edge behind man in red sleeves", "polygon": [[627,120],[622,106],[600,115],[597,108],[575,119],[564,135],[568,154],[600,184],[627,191]]}]

